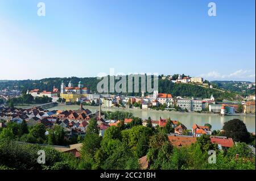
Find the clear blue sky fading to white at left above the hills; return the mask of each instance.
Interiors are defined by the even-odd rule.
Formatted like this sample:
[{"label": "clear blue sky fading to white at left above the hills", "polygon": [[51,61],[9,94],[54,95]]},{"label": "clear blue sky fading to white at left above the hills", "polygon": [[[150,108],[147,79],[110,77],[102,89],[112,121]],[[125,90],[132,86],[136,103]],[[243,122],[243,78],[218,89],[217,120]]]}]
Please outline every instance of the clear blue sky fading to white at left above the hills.
[{"label": "clear blue sky fading to white at left above the hills", "polygon": [[0,79],[114,68],[255,82],[255,1],[0,0],[0,66]]}]

